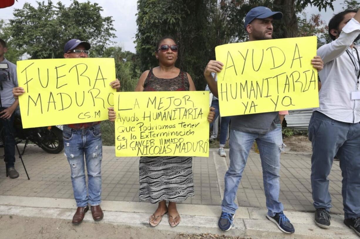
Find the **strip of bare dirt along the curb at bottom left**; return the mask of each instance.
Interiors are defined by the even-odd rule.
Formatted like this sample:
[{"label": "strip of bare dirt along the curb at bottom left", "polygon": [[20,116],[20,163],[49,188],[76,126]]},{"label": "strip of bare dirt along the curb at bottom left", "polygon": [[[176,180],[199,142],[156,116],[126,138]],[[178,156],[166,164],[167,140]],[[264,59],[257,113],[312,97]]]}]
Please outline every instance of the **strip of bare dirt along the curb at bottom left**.
[{"label": "strip of bare dirt along the curb at bottom left", "polygon": [[119,226],[82,222],[73,226],[69,220],[41,217],[0,216],[0,238],[9,239],[250,239],[214,234],[176,234],[150,227]]}]

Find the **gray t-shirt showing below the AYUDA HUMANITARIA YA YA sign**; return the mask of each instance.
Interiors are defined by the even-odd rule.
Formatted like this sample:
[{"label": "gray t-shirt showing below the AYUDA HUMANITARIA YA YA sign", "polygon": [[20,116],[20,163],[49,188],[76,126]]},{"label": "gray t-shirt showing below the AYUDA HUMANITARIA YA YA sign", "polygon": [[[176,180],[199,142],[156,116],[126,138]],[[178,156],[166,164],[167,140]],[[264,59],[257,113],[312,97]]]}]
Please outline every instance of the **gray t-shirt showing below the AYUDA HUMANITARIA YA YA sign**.
[{"label": "gray t-shirt showing below the AYUDA HUMANITARIA YA YA sign", "polygon": [[232,130],[265,134],[274,130],[280,124],[279,112],[266,112],[258,114],[244,114],[231,116]]}]

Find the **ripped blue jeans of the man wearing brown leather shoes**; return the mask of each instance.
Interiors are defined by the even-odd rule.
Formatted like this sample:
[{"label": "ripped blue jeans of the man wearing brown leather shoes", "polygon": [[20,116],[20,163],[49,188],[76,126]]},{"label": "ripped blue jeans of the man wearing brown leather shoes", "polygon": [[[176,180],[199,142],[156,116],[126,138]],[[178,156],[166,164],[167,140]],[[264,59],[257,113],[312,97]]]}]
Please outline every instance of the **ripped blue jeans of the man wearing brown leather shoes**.
[{"label": "ripped blue jeans of the man wearing brown leather shoes", "polygon": [[[77,207],[99,205],[101,202],[101,161],[103,148],[100,124],[75,130],[64,125],[65,155],[71,168],[71,181]],[[87,197],[85,163],[89,186]]]}]

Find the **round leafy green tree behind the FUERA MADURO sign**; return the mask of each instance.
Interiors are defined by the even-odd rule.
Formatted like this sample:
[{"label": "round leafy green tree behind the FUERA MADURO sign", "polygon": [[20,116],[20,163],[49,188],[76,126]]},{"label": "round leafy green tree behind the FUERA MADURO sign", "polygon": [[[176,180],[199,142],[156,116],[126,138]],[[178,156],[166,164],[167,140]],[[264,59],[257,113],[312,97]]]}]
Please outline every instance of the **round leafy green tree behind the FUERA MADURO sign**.
[{"label": "round leafy green tree behind the FUERA MADURO sign", "polygon": [[89,41],[92,50],[102,55],[115,35],[112,17],[102,17],[97,3],[73,0],[66,7],[60,1],[25,3],[14,10],[9,32],[12,44],[32,59],[62,58],[63,46],[72,38]]}]

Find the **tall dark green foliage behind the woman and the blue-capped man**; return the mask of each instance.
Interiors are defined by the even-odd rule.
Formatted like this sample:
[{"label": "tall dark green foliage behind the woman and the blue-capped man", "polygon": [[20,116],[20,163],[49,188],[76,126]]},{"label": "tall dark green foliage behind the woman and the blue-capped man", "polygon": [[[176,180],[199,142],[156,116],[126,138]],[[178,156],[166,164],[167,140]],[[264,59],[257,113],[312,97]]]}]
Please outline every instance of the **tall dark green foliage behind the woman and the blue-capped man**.
[{"label": "tall dark green foliage behind the woman and the blue-capped man", "polygon": [[[215,59],[215,46],[247,39],[244,18],[251,8],[268,6],[284,13],[282,21],[275,21],[274,38],[309,36],[323,31],[323,23],[306,22],[297,14],[308,5],[333,9],[333,1],[220,0],[218,3],[217,0],[138,0],[135,42],[140,69],[144,71],[158,66],[154,57],[157,40],[166,35],[174,36],[180,45],[176,66],[187,71],[196,88],[202,90],[205,85],[203,69],[208,60]],[[302,23],[307,23],[307,26],[298,29]]]}]

